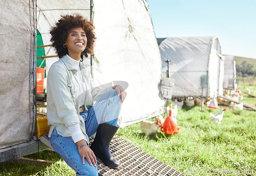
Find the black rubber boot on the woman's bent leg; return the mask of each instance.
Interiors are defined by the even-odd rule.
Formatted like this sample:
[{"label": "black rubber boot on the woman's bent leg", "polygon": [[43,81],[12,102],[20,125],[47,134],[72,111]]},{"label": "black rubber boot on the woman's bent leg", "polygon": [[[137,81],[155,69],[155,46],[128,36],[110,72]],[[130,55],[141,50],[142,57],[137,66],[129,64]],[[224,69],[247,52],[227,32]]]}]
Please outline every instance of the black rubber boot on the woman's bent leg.
[{"label": "black rubber boot on the woman's bent leg", "polygon": [[120,163],[110,153],[110,141],[116,134],[118,127],[102,123],[97,128],[97,133],[90,148],[106,165],[117,169]]}]

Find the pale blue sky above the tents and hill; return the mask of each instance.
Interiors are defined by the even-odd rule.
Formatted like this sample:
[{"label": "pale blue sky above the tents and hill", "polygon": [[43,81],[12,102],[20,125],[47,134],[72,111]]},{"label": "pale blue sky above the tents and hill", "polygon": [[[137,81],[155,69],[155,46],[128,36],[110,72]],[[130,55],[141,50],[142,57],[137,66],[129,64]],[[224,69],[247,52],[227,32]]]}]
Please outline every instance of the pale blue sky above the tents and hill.
[{"label": "pale blue sky above the tents and hill", "polygon": [[256,0],[146,0],[157,38],[217,36],[221,54],[256,59]]}]

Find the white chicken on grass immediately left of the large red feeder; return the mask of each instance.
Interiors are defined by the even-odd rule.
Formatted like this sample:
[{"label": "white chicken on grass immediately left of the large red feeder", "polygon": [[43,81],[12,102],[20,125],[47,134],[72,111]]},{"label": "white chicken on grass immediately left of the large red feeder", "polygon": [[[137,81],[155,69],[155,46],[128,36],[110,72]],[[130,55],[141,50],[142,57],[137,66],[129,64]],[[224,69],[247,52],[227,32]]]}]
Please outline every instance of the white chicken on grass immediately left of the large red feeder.
[{"label": "white chicken on grass immediately left of the large red feeder", "polygon": [[161,115],[156,116],[154,122],[143,120],[142,122],[140,122],[141,131],[145,133],[147,138],[149,138],[150,134],[157,134],[158,128],[163,125],[163,121],[164,119]]}]

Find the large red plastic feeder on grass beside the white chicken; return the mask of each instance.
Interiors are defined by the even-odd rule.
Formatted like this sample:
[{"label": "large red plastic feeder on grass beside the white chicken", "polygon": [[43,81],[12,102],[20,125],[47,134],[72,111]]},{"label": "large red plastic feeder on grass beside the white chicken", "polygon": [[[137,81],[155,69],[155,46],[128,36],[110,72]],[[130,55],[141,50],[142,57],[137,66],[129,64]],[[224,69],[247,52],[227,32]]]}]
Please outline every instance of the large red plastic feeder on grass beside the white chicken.
[{"label": "large red plastic feeder on grass beside the white chicken", "polygon": [[173,135],[180,132],[180,128],[177,127],[177,120],[172,117],[172,111],[169,111],[169,116],[164,120],[161,131],[168,135]]}]

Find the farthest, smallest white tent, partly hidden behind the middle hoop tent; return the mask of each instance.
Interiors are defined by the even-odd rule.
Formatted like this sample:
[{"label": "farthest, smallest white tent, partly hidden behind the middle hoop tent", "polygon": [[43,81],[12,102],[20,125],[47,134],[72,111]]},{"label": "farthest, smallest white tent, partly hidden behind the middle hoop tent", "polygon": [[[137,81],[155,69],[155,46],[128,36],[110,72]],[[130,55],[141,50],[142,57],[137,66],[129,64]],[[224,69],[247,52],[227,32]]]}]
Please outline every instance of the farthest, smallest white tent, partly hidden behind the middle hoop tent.
[{"label": "farthest, smallest white tent, partly hidden behind the middle hoop tent", "polygon": [[224,89],[236,89],[236,61],[234,56],[225,56],[224,61]]}]

